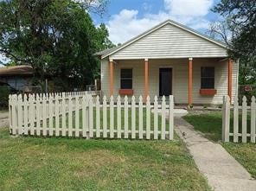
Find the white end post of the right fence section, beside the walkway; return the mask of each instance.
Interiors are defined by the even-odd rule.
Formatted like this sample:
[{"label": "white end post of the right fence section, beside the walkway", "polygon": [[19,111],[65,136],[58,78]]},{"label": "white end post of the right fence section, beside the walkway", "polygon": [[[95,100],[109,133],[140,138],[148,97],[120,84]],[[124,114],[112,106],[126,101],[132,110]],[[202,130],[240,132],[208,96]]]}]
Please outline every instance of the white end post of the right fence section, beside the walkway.
[{"label": "white end post of the right fence section, beside the walkway", "polygon": [[230,102],[228,96],[223,98],[222,111],[222,141],[229,142]]}]

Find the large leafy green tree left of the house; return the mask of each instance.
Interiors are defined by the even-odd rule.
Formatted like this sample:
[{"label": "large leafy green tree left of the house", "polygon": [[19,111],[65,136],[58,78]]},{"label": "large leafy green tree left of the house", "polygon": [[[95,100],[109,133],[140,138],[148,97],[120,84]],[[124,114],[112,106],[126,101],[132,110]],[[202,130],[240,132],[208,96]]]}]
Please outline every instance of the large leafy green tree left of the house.
[{"label": "large leafy green tree left of the house", "polygon": [[56,90],[84,88],[99,71],[93,55],[107,41],[87,11],[71,0],[0,2],[0,52],[35,68],[35,81],[52,77]]}]

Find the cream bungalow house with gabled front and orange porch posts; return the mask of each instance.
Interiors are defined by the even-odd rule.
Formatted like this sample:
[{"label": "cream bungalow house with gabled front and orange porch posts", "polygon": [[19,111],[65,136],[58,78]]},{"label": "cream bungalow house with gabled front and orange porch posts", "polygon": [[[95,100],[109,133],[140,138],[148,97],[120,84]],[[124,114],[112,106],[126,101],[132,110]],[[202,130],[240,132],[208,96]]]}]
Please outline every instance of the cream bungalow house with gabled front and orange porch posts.
[{"label": "cream bungalow house with gabled front and orange porch posts", "polygon": [[218,105],[238,93],[238,62],[228,58],[226,45],[171,20],[98,55],[107,97],[152,101],[172,94],[176,104]]}]

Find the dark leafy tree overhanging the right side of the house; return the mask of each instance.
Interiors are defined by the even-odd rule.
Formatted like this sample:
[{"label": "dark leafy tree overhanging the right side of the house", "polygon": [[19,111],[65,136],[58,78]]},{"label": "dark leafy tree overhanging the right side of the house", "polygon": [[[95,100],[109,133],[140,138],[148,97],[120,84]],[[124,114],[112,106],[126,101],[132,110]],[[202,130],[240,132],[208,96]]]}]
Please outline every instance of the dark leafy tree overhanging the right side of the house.
[{"label": "dark leafy tree overhanging the right side of the house", "polygon": [[228,54],[240,60],[240,85],[256,86],[256,4],[247,0],[221,0],[213,9],[223,21],[211,26],[211,33],[227,43]]}]

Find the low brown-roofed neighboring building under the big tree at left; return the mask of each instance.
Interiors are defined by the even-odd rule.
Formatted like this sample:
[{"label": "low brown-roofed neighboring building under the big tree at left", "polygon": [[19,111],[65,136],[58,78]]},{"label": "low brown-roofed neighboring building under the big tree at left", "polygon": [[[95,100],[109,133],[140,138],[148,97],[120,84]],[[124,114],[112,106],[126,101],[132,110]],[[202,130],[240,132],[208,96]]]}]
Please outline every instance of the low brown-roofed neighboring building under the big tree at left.
[{"label": "low brown-roofed neighboring building under the big tree at left", "polygon": [[0,83],[7,84],[17,91],[31,92],[34,73],[33,68],[29,66],[0,67]]}]

